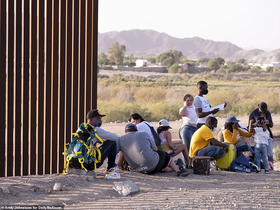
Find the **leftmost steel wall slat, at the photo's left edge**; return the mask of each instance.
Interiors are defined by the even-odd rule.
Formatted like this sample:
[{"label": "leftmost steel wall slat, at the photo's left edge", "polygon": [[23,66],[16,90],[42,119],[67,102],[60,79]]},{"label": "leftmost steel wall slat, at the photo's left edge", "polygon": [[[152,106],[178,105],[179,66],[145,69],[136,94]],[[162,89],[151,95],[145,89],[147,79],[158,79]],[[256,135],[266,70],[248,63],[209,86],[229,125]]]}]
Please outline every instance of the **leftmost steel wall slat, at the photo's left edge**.
[{"label": "leftmost steel wall slat, at the photo's left edge", "polygon": [[[0,133],[6,138],[6,1],[0,1],[0,110],[5,114],[0,116]],[[2,139],[1,142],[5,141]],[[5,141],[6,146],[6,141]],[[4,177],[6,170],[5,146],[0,147],[0,177]]]}]

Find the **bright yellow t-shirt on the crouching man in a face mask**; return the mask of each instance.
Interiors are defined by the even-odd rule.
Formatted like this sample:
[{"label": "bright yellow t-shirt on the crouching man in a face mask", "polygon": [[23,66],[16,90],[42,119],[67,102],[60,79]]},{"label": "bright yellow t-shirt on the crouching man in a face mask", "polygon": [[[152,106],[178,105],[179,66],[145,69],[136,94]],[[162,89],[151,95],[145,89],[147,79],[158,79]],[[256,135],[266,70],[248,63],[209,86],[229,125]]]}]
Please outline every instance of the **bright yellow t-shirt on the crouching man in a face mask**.
[{"label": "bright yellow t-shirt on the crouching man in a face mask", "polygon": [[214,138],[214,136],[210,128],[208,128],[206,125],[202,125],[201,128],[195,131],[191,137],[189,156],[194,157],[198,150],[207,147],[210,142],[209,139],[212,138]]}]

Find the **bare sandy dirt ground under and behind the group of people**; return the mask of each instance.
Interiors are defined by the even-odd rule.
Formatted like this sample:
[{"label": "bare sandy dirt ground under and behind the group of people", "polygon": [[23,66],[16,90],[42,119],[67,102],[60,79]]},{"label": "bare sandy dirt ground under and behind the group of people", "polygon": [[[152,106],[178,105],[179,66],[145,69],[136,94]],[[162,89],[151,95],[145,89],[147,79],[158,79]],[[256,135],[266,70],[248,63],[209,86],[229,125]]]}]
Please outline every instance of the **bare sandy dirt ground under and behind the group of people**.
[{"label": "bare sandy dirt ground under and behind the group of people", "polygon": [[[272,131],[279,134],[280,116],[272,117]],[[238,119],[244,125],[248,122],[248,117]],[[219,118],[218,127],[224,121]],[[179,140],[181,123],[170,122],[174,141]],[[108,123],[102,128],[122,135],[125,124]],[[106,180],[105,168],[97,170],[97,178],[61,174],[1,177],[0,187],[9,189],[9,193],[0,188],[0,205],[64,205],[65,209],[280,209],[280,161],[274,166],[275,171],[270,174],[211,170],[210,176],[191,173],[183,178],[175,176],[175,172],[146,175],[122,171],[121,179]],[[141,191],[131,197],[120,197],[112,185],[126,180],[135,182]],[[67,190],[45,193],[56,182]]]}]

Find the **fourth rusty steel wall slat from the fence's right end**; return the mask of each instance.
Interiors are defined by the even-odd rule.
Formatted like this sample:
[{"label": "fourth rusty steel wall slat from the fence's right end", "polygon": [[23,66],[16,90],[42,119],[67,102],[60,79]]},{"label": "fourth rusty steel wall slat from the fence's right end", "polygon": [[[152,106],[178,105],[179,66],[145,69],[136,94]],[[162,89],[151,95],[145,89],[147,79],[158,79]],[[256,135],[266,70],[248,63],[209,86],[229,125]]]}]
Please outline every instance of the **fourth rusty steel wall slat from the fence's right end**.
[{"label": "fourth rusty steel wall slat from the fence's right end", "polygon": [[78,75],[79,75],[79,1],[73,1],[72,30],[72,132],[78,128]]}]

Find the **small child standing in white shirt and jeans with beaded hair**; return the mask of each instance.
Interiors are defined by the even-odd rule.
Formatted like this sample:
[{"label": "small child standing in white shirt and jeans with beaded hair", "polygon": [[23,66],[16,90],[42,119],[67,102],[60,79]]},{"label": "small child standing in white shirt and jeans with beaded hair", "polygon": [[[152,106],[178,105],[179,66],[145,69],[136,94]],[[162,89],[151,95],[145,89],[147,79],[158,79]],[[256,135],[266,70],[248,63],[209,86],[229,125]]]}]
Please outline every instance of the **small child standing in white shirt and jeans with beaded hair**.
[{"label": "small child standing in white shirt and jeans with beaded hair", "polygon": [[[252,128],[254,120],[250,120],[249,132],[255,134],[255,161],[256,165],[260,167],[260,160],[263,160],[265,173],[269,173],[268,160],[266,146],[268,145],[269,131],[265,129],[266,119],[264,117],[258,117],[256,124],[258,127]],[[257,170],[257,173],[261,173],[261,170]]]}]

